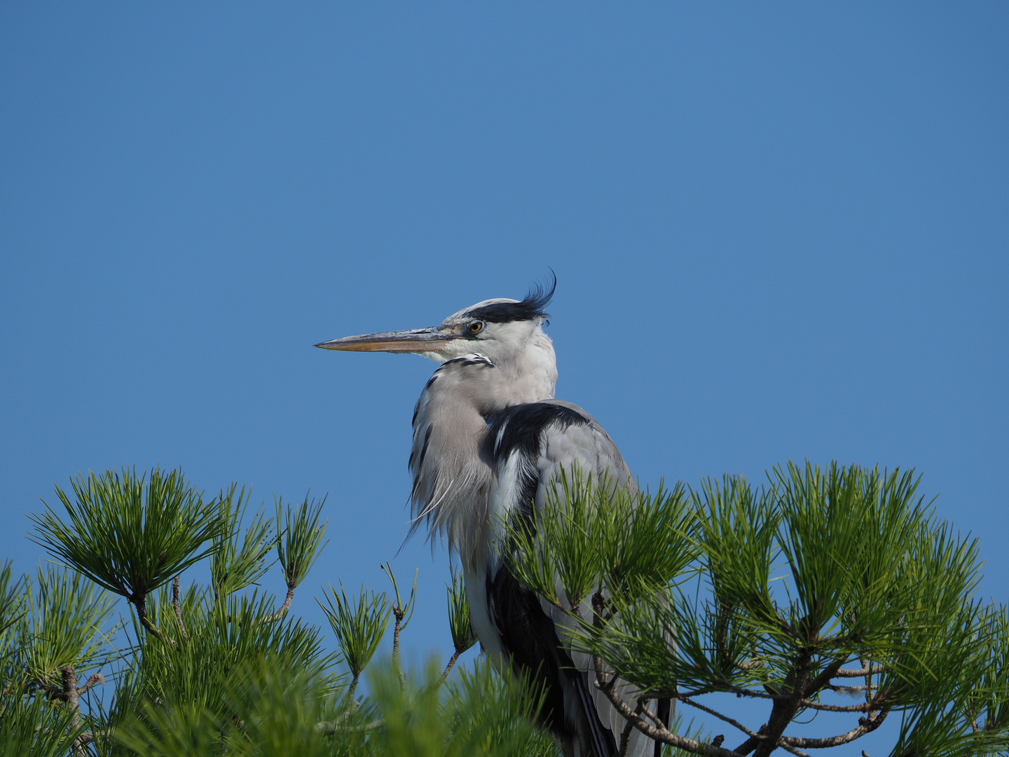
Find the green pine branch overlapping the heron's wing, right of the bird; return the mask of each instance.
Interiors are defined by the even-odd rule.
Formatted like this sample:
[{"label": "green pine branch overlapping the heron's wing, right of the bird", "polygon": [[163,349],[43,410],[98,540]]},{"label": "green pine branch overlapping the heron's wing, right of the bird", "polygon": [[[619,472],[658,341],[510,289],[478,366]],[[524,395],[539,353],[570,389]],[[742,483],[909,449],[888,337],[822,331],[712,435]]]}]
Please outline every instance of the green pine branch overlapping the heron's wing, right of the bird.
[{"label": "green pine branch overlapping the heron's wing, right of the bird", "polygon": [[[890,719],[893,757],[1006,754],[1009,613],[976,597],[977,540],[935,516],[919,480],[807,463],[760,489],[725,476],[651,495],[573,470],[533,527],[500,524],[502,557],[571,618],[569,644],[628,728],[681,753],[805,754]],[[640,696],[624,700],[619,679]],[[764,716],[741,722],[716,693]],[[655,697],[727,736],[675,733]],[[790,733],[822,712],[849,728]]]}]

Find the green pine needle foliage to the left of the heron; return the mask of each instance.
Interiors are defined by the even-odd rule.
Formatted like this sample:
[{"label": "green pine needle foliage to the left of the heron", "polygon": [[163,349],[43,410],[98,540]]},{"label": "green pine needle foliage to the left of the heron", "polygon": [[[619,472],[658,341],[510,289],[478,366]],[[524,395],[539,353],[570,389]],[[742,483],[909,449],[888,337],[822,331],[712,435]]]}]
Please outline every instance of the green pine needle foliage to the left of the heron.
[{"label": "green pine needle foliage to the left of the heron", "polygon": [[[326,544],[323,502],[277,500],[270,518],[235,484],[208,500],[157,468],[78,476],[57,497],[32,538],[63,566],[0,570],[0,757],[558,754],[522,681],[482,661],[449,677],[475,642],[458,576],[444,670],[402,668],[417,584],[402,597],[390,565],[391,596],[324,588],[337,648],[323,648],[291,610]],[[210,583],[181,585],[201,560]],[[258,587],[273,565],[279,607]],[[374,662],[390,625],[394,656]]]}]

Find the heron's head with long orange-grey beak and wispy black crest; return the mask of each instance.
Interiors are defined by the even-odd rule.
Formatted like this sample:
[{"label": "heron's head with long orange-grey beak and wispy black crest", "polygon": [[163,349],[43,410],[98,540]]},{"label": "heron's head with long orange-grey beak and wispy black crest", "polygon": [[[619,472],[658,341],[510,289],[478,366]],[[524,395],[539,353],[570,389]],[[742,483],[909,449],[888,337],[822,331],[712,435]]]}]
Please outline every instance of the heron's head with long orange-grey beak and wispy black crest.
[{"label": "heron's head with long orange-grey beak and wispy black crest", "polygon": [[555,276],[549,288],[537,286],[523,300],[484,300],[438,326],[345,336],[315,346],[348,352],[415,352],[437,362],[479,352],[496,363],[525,350],[538,334],[549,344],[543,324],[556,287]]}]

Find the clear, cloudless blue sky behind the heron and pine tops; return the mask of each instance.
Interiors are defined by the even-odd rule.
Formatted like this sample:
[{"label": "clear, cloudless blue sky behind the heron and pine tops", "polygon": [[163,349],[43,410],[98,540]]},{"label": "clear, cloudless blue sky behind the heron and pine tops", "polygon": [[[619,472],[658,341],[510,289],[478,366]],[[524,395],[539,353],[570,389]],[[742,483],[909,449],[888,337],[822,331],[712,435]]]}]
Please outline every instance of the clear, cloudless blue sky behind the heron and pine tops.
[{"label": "clear, cloudless blue sky behind the heron and pine tops", "polygon": [[[0,557],[53,482],[329,493],[296,597],[407,533],[416,356],[557,273],[558,396],[645,482],[915,467],[1007,599],[1005,3],[5,3]],[[276,584],[274,580],[271,585]]]}]

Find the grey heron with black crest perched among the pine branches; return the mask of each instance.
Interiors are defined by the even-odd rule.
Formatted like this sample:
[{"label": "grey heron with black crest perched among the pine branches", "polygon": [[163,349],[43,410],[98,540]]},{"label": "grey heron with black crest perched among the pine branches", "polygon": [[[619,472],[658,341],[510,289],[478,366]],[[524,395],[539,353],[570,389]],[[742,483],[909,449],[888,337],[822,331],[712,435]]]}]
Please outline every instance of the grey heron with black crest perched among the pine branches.
[{"label": "grey heron with black crest perched among the pine branches", "polygon": [[[616,445],[592,416],[554,399],[557,361],[543,330],[557,280],[523,300],[484,300],[439,326],[321,342],[359,352],[413,352],[439,363],[414,410],[414,525],[447,537],[462,566],[474,632],[500,669],[534,675],[541,721],[566,756],[612,757],[624,720],[592,684],[586,655],[566,648],[569,618],[523,586],[499,557],[496,518],[534,517],[562,469],[608,471],[634,485]],[[587,605],[587,603],[586,603]],[[586,608],[586,612],[588,609]],[[669,700],[656,704],[668,719]],[[654,712],[654,711],[653,711]],[[628,754],[658,757],[635,732]]]}]

